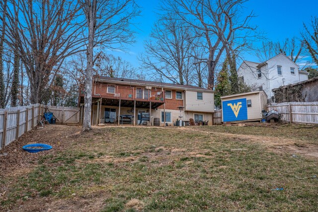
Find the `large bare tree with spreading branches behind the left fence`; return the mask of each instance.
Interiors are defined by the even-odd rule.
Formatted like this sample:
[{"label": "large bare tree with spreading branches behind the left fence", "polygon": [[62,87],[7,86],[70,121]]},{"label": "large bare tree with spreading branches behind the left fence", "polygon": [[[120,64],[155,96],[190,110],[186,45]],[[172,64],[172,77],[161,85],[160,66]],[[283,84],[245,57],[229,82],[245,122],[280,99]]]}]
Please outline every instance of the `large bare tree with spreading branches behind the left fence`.
[{"label": "large bare tree with spreading branches behind the left fence", "polygon": [[63,61],[84,50],[80,6],[69,0],[12,0],[10,8],[7,42],[24,65],[30,102],[41,103]]}]

